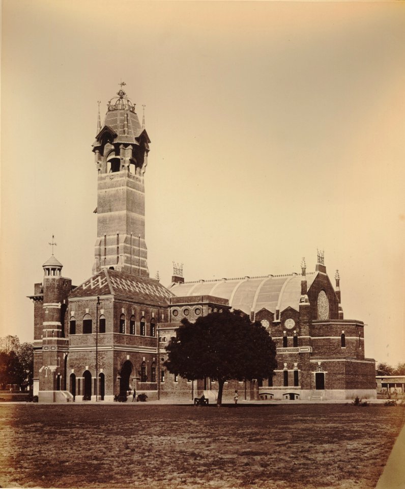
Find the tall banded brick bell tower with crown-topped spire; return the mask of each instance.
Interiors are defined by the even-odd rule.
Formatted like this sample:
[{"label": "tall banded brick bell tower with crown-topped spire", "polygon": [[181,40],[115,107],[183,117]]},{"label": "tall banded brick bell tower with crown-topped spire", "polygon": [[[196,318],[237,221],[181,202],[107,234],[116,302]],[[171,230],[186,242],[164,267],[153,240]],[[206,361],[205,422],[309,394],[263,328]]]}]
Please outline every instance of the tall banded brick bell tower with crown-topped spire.
[{"label": "tall banded brick bell tower with crown-topped spire", "polygon": [[113,268],[149,277],[145,243],[144,173],[149,143],[133,104],[121,83],[117,97],[107,104],[103,126],[100,108],[96,141],[97,240],[93,274]]}]

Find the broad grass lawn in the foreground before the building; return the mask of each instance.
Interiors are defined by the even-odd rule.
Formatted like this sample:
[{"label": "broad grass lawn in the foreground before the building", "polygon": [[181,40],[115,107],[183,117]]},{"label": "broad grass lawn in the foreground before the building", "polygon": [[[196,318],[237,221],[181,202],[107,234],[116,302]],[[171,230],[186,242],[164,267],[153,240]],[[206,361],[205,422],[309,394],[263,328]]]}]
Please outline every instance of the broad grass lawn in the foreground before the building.
[{"label": "broad grass lawn in the foreground before the building", "polygon": [[405,409],[0,405],[2,487],[374,488]]}]

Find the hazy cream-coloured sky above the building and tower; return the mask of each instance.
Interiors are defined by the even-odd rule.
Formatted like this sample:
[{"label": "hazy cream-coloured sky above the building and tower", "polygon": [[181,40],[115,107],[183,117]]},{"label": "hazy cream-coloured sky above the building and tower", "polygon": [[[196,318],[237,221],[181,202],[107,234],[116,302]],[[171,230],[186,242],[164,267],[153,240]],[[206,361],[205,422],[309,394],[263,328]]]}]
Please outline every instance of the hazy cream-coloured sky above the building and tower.
[{"label": "hazy cream-coloured sky above the building and tower", "polygon": [[308,271],[325,250],[365,353],[405,361],[405,4],[3,0],[0,336],[55,256],[91,276],[91,145],[124,80],[146,104],[150,274]]}]

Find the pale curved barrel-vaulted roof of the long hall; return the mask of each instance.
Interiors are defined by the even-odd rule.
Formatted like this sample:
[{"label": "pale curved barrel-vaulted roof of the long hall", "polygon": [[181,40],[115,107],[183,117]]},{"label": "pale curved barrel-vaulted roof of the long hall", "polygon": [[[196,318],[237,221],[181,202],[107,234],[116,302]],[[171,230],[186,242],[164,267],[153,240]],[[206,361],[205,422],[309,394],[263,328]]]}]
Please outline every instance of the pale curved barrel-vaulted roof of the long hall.
[{"label": "pale curved barrel-vaulted roof of the long hall", "polygon": [[[315,280],[316,273],[306,275],[307,288]],[[299,309],[301,297],[301,275],[280,275],[263,277],[245,277],[238,279],[220,279],[173,284],[170,291],[178,297],[183,295],[214,295],[229,301],[233,309],[246,314],[262,308],[275,313],[288,306]]]}]

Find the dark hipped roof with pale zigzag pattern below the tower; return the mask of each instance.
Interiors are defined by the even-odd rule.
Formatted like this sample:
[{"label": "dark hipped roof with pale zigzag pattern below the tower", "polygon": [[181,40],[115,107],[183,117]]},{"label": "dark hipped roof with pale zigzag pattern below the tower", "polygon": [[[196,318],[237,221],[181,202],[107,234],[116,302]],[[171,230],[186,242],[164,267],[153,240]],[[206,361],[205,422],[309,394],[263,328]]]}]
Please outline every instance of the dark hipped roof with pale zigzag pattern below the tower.
[{"label": "dark hipped roof with pale zigzag pattern below the tower", "polygon": [[104,268],[76,287],[69,298],[114,295],[138,304],[166,307],[175,295],[157,280]]}]

